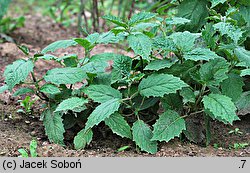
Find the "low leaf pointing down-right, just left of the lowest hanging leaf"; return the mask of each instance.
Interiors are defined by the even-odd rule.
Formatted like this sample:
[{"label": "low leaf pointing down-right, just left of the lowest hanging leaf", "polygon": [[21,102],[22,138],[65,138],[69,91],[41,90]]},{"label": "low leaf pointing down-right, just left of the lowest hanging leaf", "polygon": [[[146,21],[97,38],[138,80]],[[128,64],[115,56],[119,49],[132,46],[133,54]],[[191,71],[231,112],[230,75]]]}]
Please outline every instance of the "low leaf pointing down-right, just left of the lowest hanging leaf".
[{"label": "low leaf pointing down-right, just left of the lowest hanging leaf", "polygon": [[113,131],[113,133],[116,133],[121,137],[132,139],[130,126],[121,114],[114,113],[104,121],[105,124]]}]

